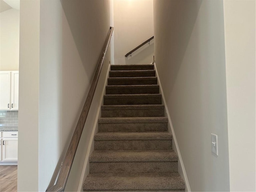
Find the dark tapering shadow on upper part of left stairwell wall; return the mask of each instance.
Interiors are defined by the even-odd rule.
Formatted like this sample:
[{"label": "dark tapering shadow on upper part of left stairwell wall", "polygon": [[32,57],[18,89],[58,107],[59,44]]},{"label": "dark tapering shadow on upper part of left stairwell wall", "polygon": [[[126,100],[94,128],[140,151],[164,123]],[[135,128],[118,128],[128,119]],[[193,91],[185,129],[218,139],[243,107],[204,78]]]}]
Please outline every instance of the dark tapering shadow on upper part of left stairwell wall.
[{"label": "dark tapering shadow on upper part of left stairwell wall", "polygon": [[[92,72],[96,70],[98,58],[100,58],[104,46],[104,43],[101,42],[105,42],[110,27],[106,27],[106,23],[102,20],[102,17],[95,13],[106,12],[106,7],[109,6],[108,2],[94,0],[61,0],[60,2],[68,20],[68,25],[76,43],[82,64],[86,73],[91,76],[93,74]],[[108,18],[110,18],[110,12],[108,14]],[[102,36],[102,32],[106,36]],[[96,39],[97,41],[95,41]],[[88,45],[92,46],[88,48]]]}]

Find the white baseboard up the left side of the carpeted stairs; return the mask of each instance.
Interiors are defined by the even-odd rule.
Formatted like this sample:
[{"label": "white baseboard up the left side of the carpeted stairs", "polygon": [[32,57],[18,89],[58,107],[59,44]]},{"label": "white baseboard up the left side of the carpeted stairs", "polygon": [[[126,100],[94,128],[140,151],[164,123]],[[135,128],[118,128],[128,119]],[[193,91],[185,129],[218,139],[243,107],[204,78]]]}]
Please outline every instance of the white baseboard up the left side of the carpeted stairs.
[{"label": "white baseboard up the left side of the carpeted stairs", "polygon": [[106,78],[105,78],[105,82],[104,82],[104,87],[103,87],[102,94],[101,94],[101,97],[100,97],[100,102],[99,102],[99,106],[98,106],[94,126],[93,126],[93,129],[92,129],[92,134],[90,136],[90,141],[89,141],[89,145],[88,145],[89,150],[87,150],[86,158],[84,160],[84,167],[83,167],[82,174],[81,174],[81,177],[80,177],[81,179],[80,179],[79,186],[78,186],[78,192],[83,191],[84,180],[87,177],[87,175],[89,174],[89,157],[90,157],[90,154],[92,153],[92,151],[94,150],[94,135],[96,134],[96,131],[98,130],[98,118],[99,118],[99,115],[100,115],[100,112],[101,112],[101,106],[103,104],[103,96],[105,94],[105,87],[106,87],[107,82],[108,82],[109,71],[110,71],[110,64],[108,65],[108,70],[107,70],[107,74],[106,74]]}]

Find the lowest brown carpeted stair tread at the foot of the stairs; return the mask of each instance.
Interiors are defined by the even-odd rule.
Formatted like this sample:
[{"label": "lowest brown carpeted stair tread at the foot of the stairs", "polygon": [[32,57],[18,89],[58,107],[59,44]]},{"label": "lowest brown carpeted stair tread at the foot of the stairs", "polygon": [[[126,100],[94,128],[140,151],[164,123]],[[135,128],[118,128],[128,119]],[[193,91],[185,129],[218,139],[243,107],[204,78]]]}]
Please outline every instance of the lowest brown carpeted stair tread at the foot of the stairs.
[{"label": "lowest brown carpeted stair tread at the foot of the stairs", "polygon": [[94,173],[83,184],[84,190],[172,190],[184,189],[178,173]]}]

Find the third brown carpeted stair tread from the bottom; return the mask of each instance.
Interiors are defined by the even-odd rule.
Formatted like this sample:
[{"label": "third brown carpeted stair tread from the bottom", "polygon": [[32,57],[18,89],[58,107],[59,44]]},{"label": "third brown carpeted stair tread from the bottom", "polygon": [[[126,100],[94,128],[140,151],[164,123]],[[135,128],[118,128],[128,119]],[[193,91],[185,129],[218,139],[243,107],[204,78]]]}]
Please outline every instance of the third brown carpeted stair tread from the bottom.
[{"label": "third brown carpeted stair tread from the bottom", "polygon": [[172,140],[169,132],[99,132],[95,141],[113,140]]}]

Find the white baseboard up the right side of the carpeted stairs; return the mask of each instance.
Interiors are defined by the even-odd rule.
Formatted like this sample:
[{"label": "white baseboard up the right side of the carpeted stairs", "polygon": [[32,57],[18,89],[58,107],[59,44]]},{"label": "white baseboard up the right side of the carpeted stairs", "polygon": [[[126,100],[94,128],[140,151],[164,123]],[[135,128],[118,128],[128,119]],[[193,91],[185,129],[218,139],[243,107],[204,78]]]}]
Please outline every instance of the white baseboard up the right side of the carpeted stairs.
[{"label": "white baseboard up the right side of the carpeted stairs", "polygon": [[181,154],[180,154],[180,149],[179,149],[179,146],[178,146],[178,142],[177,142],[177,139],[176,139],[176,136],[175,136],[174,128],[172,126],[172,120],[170,118],[170,114],[169,114],[169,111],[168,111],[168,108],[167,108],[167,105],[166,105],[166,100],[164,98],[164,93],[163,93],[163,90],[162,90],[162,85],[161,85],[161,82],[160,82],[160,79],[159,79],[159,76],[158,76],[156,63],[154,63],[154,68],[156,70],[156,76],[157,76],[157,80],[158,80],[158,84],[159,84],[159,88],[160,88],[160,94],[162,94],[162,102],[164,103],[165,114],[168,118],[168,130],[172,132],[173,149],[178,154],[178,157],[179,157],[178,172],[179,172],[180,176],[185,180],[185,183],[186,183],[185,191],[191,192],[191,189],[190,189],[190,186],[189,186],[189,183],[188,183],[188,177],[187,177],[186,170],[185,170],[185,167],[184,167],[184,164],[183,164],[183,161],[182,161],[182,157],[181,157]]}]

